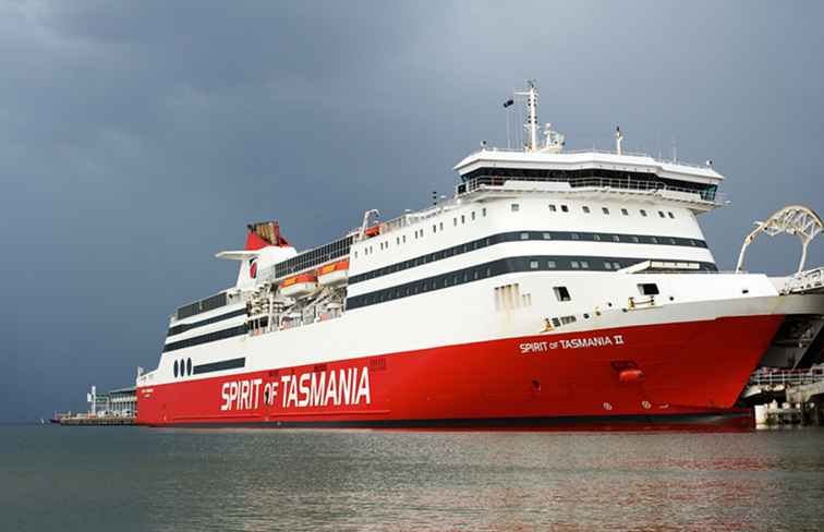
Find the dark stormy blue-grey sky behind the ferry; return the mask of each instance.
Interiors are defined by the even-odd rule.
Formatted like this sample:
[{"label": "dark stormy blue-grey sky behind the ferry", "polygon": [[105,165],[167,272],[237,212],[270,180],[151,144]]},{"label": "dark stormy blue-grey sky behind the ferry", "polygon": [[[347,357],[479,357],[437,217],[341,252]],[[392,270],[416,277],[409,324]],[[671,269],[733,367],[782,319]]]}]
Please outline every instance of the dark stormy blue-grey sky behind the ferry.
[{"label": "dark stormy blue-grey sky behind the ferry", "polygon": [[[0,0],[0,421],[154,368],[214,258],[278,219],[299,249],[449,195],[537,81],[570,148],[714,161],[719,266],[753,220],[824,210],[824,3]],[[795,269],[763,238],[751,271]],[[810,249],[824,264],[824,241]]]}]

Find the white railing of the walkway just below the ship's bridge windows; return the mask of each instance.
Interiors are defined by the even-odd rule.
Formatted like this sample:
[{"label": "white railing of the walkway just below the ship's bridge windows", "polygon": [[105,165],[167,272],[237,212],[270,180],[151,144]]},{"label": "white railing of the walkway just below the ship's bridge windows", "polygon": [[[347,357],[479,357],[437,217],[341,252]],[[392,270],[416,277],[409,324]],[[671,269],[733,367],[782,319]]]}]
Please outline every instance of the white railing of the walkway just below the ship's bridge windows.
[{"label": "white railing of the walkway just below the ship's bridge windows", "polygon": [[[661,192],[677,192],[680,194],[688,194],[689,201],[707,203],[713,205],[723,205],[726,203],[726,195],[717,192],[714,189],[694,190],[682,186],[667,185],[655,181],[632,180],[632,179],[616,179],[616,178],[579,178],[579,179],[562,179],[562,178],[512,178],[512,177],[496,177],[496,176],[480,176],[466,180],[463,184],[465,192],[474,192],[482,188],[495,186],[506,188],[508,181],[537,181],[549,183],[568,183],[569,191],[575,189],[610,189],[618,191],[629,192],[647,192],[647,193],[661,193]],[[559,190],[562,192],[562,190]]]}]

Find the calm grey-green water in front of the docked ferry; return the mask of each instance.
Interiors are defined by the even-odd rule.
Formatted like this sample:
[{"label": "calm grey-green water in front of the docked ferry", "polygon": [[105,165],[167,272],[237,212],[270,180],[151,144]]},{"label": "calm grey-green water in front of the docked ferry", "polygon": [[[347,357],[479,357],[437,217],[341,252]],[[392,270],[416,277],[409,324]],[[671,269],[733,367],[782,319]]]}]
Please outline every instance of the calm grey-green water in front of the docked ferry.
[{"label": "calm grey-green water in front of the docked ferry", "polygon": [[824,530],[824,430],[0,427],[1,531]]}]

